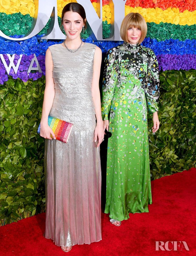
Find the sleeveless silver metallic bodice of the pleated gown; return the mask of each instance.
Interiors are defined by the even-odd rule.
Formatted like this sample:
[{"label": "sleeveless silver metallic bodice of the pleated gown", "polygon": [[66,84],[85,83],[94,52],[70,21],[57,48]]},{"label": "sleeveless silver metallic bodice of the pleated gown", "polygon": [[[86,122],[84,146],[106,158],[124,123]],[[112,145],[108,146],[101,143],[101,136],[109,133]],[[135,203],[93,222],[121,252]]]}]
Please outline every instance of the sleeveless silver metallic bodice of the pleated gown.
[{"label": "sleeveless silver metallic bodice of the pleated gown", "polygon": [[[95,110],[91,93],[96,46],[84,43],[77,52],[62,44],[49,49],[53,59],[55,97],[50,115],[74,124],[74,130],[94,130]],[[92,122],[92,120],[94,120]]]}]

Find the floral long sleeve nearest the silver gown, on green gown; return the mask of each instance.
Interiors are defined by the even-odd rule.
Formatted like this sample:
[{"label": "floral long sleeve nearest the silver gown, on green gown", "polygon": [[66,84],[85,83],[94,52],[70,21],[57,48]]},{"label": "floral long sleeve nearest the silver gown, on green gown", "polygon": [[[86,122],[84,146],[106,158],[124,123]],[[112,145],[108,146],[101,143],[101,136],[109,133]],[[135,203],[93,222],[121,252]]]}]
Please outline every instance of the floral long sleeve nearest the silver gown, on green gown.
[{"label": "floral long sleeve nearest the silver gown, on green gown", "polygon": [[118,64],[117,64],[116,49],[110,49],[105,58],[105,68],[103,73],[103,86],[102,86],[102,101],[101,113],[102,119],[108,120],[108,114],[111,107],[111,101],[114,95],[114,88],[118,79]]}]

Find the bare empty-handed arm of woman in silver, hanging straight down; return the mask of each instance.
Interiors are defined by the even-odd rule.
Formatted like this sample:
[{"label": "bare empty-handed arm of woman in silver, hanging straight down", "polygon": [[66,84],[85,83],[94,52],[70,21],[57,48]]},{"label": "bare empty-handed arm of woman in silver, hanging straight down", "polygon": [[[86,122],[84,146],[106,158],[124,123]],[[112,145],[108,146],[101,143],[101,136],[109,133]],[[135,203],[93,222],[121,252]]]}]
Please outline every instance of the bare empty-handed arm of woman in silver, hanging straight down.
[{"label": "bare empty-handed arm of woman in silver, hanging straight down", "polygon": [[103,121],[102,121],[102,116],[101,116],[101,99],[100,99],[100,91],[99,91],[101,58],[102,58],[101,49],[99,47],[96,47],[95,56],[94,56],[93,80],[92,80],[91,90],[92,90],[93,103],[95,106],[95,114],[96,114],[96,119],[97,119],[97,125],[96,125],[95,132],[94,132],[95,142],[98,139],[97,147],[100,146],[100,144],[104,138]]}]

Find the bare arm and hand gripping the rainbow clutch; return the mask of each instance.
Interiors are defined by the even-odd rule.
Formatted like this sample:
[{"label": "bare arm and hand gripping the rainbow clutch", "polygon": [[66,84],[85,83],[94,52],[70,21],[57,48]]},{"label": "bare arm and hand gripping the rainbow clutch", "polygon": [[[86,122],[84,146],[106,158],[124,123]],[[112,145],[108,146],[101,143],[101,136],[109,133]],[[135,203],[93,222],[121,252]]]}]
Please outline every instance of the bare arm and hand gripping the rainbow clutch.
[{"label": "bare arm and hand gripping the rainbow clutch", "polygon": [[44,101],[42,107],[42,118],[41,118],[41,130],[40,135],[44,138],[52,140],[51,136],[55,139],[55,135],[53,130],[48,126],[48,115],[50,113],[50,109],[53,104],[55,90],[54,90],[54,80],[52,77],[52,70],[53,70],[53,61],[52,55],[49,49],[46,51],[45,55],[45,77],[46,77],[46,84],[45,84],[45,91],[44,91]]}]

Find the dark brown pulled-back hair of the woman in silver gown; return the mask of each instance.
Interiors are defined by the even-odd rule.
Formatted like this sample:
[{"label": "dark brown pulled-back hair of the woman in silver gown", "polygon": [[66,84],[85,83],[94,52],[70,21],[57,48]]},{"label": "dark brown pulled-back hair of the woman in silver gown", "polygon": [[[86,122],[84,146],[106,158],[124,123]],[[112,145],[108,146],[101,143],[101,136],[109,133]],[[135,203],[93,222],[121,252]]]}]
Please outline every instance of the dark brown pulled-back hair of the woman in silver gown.
[{"label": "dark brown pulled-back hair of the woman in silver gown", "polygon": [[64,6],[63,10],[62,10],[62,15],[61,15],[61,26],[63,24],[63,16],[66,12],[76,12],[78,13],[83,21],[84,21],[84,27],[85,29],[87,28],[87,20],[86,20],[86,13],[85,13],[85,10],[84,10],[84,7],[81,5],[81,4],[78,4],[78,3],[68,3]]}]

